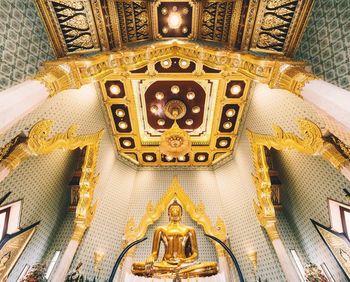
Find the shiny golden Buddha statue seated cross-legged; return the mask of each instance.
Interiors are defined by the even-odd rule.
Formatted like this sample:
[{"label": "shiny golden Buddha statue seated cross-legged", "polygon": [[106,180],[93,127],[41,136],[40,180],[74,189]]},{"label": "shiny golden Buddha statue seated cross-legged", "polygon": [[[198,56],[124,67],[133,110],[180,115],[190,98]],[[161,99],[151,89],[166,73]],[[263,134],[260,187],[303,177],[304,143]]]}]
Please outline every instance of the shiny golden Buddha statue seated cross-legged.
[{"label": "shiny golden Buddha statue seated cross-legged", "polygon": [[[191,278],[218,273],[216,262],[199,263],[194,228],[181,223],[182,207],[175,200],[168,209],[169,224],[156,228],[152,254],[146,262],[132,265],[132,273],[146,277]],[[163,260],[158,261],[160,243],[164,244]]]}]

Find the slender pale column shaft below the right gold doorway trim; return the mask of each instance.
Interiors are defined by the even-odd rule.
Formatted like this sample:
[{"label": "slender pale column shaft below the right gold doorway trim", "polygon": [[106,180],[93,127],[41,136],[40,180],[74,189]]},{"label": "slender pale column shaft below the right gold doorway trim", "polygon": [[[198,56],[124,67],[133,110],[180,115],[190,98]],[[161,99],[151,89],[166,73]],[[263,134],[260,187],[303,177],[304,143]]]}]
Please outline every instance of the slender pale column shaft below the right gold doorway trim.
[{"label": "slender pale column shaft below the right gold doorway trim", "polygon": [[278,260],[281,264],[282,270],[284,272],[284,275],[287,278],[288,282],[297,282],[297,281],[302,281],[299,278],[299,275],[290,259],[288,256],[288,253],[281,241],[281,239],[274,239],[271,240],[272,245],[275,249],[275,252],[277,254]]}]

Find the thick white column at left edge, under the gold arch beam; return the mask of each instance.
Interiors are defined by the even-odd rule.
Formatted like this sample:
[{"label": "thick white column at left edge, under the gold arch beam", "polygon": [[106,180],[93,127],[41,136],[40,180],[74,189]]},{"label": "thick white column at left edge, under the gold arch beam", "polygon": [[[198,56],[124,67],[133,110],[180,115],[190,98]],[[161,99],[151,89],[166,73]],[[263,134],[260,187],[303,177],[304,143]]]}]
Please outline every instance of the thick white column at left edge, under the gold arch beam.
[{"label": "thick white column at left edge, under the gold arch beam", "polygon": [[48,96],[48,89],[39,80],[27,80],[0,92],[0,134],[36,109]]}]

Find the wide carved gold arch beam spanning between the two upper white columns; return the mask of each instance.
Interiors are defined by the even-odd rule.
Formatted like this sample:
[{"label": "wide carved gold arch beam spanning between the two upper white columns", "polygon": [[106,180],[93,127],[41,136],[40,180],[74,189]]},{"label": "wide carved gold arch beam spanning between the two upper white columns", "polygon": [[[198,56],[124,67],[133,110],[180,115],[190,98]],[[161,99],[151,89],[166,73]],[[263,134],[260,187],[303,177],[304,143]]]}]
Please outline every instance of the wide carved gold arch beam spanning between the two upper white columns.
[{"label": "wide carved gold arch beam spanning between the two upper white columns", "polygon": [[[305,70],[305,63],[300,61],[286,57],[255,56],[177,39],[128,50],[102,52],[88,58],[70,56],[50,61],[45,63],[42,71],[34,79],[41,80],[50,89],[50,96],[53,96],[62,90],[101,81],[113,73],[127,78],[131,70],[171,57],[195,61],[199,65],[205,64],[221,70],[223,78],[241,74],[248,79],[269,84],[272,88],[289,90],[298,96],[305,83],[317,79]],[[202,73],[195,72],[195,75],[200,76]]]}]

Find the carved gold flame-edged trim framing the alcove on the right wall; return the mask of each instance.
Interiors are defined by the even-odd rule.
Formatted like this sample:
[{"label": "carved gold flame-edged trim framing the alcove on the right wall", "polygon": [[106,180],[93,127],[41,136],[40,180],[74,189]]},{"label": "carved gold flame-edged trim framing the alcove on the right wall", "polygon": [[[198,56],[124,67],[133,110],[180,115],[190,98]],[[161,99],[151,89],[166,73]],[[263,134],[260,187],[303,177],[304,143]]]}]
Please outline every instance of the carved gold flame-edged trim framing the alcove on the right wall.
[{"label": "carved gold flame-edged trim framing the alcove on the right wall", "polygon": [[266,229],[271,240],[278,239],[279,235],[276,229],[275,208],[271,200],[271,179],[265,148],[295,149],[304,154],[321,156],[338,170],[349,164],[349,160],[323,138],[321,129],[315,123],[302,119],[298,125],[301,138],[294,133],[284,132],[277,125],[273,125],[273,135],[257,134],[247,130],[255,167],[253,182],[258,198],[257,202],[254,202],[254,208],[260,225]]}]

